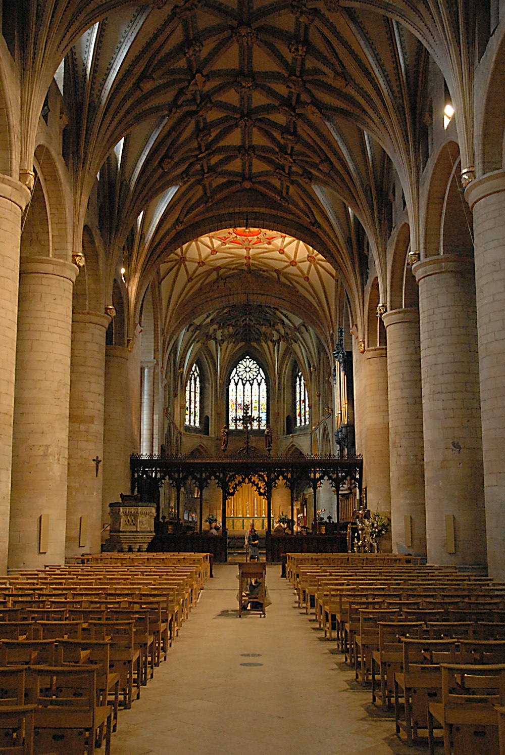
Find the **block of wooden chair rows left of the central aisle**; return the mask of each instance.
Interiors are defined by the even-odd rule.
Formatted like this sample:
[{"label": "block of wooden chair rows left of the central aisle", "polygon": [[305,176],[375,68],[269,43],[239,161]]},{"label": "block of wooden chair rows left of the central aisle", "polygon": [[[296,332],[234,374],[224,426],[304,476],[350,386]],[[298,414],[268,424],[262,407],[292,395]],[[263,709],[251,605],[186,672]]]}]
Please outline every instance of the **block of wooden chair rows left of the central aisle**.
[{"label": "block of wooden chair rows left of the central aisle", "polygon": [[[126,555],[126,554],[125,554]],[[110,752],[167,659],[207,553],[104,554],[0,578],[0,753]]]}]

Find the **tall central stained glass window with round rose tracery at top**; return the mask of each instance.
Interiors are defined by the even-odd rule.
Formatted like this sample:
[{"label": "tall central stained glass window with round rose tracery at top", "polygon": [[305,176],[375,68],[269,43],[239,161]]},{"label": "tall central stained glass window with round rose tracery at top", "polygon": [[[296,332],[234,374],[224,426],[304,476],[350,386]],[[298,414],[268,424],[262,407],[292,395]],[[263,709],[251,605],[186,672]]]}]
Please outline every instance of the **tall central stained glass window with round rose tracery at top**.
[{"label": "tall central stained glass window with round rose tracery at top", "polygon": [[266,427],[265,373],[251,356],[241,359],[229,376],[228,423],[230,430],[242,430],[242,415],[248,404],[252,416],[252,429]]}]

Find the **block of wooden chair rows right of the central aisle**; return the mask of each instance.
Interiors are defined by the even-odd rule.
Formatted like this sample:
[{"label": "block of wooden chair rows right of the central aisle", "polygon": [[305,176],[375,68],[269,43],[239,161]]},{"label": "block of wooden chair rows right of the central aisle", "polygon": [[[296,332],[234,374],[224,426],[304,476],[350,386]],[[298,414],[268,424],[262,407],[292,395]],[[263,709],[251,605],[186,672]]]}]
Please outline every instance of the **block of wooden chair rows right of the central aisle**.
[{"label": "block of wooden chair rows right of the central aisle", "polygon": [[393,554],[288,554],[287,575],[407,744],[505,755],[505,584]]}]

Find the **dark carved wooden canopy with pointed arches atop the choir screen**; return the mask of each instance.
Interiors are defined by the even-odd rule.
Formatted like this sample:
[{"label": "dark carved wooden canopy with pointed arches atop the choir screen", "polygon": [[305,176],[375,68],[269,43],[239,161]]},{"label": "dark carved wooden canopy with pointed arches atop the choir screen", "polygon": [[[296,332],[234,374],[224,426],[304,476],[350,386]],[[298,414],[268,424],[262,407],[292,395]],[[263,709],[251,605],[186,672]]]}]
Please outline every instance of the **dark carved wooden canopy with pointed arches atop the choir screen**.
[{"label": "dark carved wooden canopy with pointed arches atop the choir screen", "polygon": [[[221,488],[223,495],[223,532],[226,531],[226,499],[248,482],[266,498],[268,530],[272,521],[272,489],[279,482],[291,490],[291,520],[295,492],[306,487],[313,489],[314,519],[317,511],[317,490],[327,479],[338,495],[346,479],[361,491],[363,459],[341,459],[336,456],[300,456],[297,458],[237,455],[235,457],[194,458],[191,456],[131,456],[131,492],[138,493],[141,501],[157,501],[159,488],[168,480],[177,491],[177,519],[180,519],[180,492],[188,482],[203,491],[211,480]],[[200,520],[202,516],[200,516]]]}]

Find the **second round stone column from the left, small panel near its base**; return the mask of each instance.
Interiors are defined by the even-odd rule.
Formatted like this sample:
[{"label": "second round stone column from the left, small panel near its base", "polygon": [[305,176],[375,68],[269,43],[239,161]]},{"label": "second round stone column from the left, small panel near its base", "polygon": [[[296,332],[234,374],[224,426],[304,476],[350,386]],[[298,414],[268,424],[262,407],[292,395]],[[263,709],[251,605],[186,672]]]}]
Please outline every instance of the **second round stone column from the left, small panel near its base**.
[{"label": "second round stone column from the left, small panel near its base", "polygon": [[20,266],[9,568],[65,560],[72,286],[54,257]]}]

